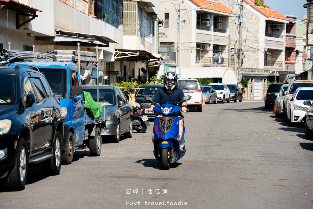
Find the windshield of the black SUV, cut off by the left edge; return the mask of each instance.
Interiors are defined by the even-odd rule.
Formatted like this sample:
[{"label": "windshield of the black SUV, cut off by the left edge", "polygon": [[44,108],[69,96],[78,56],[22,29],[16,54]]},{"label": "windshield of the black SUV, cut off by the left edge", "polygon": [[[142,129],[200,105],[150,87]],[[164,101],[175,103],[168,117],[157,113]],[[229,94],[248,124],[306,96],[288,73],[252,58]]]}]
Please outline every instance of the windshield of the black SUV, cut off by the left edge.
[{"label": "windshield of the black SUV, cut off by the left edge", "polygon": [[14,75],[0,75],[0,105],[15,104],[16,89]]}]

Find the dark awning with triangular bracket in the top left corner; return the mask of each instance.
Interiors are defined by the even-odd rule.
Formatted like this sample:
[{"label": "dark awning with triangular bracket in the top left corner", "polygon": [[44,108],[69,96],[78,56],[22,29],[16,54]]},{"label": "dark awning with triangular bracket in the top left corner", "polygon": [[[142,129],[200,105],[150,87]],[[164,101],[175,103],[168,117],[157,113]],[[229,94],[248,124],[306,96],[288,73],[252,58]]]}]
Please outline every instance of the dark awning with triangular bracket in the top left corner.
[{"label": "dark awning with triangular bracket in the top left corner", "polygon": [[[37,18],[38,17],[38,15],[36,14],[37,12],[42,12],[39,9],[30,7],[23,3],[19,3],[18,1],[15,0],[0,0],[0,9],[2,7],[16,12],[16,29],[19,29],[23,25]],[[20,24],[19,16],[28,16],[31,18]]]}]

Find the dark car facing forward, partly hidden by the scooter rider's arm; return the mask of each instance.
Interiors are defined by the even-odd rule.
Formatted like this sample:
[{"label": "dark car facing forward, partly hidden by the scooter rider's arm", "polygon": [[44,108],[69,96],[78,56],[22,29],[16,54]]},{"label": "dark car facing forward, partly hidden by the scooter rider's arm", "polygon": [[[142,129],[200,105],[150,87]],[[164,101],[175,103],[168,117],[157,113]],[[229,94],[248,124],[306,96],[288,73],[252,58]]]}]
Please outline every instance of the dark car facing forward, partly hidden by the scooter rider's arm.
[{"label": "dark car facing forward, partly hidden by the scooter rider's arm", "polygon": [[[162,89],[164,87],[163,84],[148,84],[148,85],[141,85],[135,92],[135,101],[142,105],[143,108],[145,108],[145,115],[148,117],[156,117],[154,112],[149,112],[149,108],[151,106],[150,101],[146,101],[143,97],[149,96],[153,99],[154,95],[156,94],[156,91],[159,89]],[[144,89],[141,89],[144,88]]]}]

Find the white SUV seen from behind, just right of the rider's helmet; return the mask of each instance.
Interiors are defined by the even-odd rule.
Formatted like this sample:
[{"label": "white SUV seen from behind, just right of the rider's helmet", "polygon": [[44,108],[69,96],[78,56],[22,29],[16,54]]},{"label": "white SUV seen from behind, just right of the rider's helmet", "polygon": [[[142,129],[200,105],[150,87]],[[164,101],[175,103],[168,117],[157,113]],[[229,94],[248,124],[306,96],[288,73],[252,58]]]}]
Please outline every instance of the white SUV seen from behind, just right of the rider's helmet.
[{"label": "white SUV seen from behind, just right of the rider's helmet", "polygon": [[185,96],[190,95],[187,101],[187,108],[197,108],[197,112],[202,112],[202,92],[197,79],[178,79],[177,87],[180,88]]}]

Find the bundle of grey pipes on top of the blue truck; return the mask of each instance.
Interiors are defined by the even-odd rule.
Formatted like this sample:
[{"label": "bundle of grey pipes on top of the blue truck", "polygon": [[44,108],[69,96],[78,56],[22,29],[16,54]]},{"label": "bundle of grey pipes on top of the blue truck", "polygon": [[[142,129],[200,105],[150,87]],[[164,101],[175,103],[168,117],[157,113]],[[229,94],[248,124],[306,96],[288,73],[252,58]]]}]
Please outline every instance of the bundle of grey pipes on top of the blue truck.
[{"label": "bundle of grey pipes on top of the blue truck", "polygon": [[10,61],[10,60],[15,60],[15,59],[53,60],[54,54],[2,49],[0,58],[1,60],[4,60],[4,61]]}]

